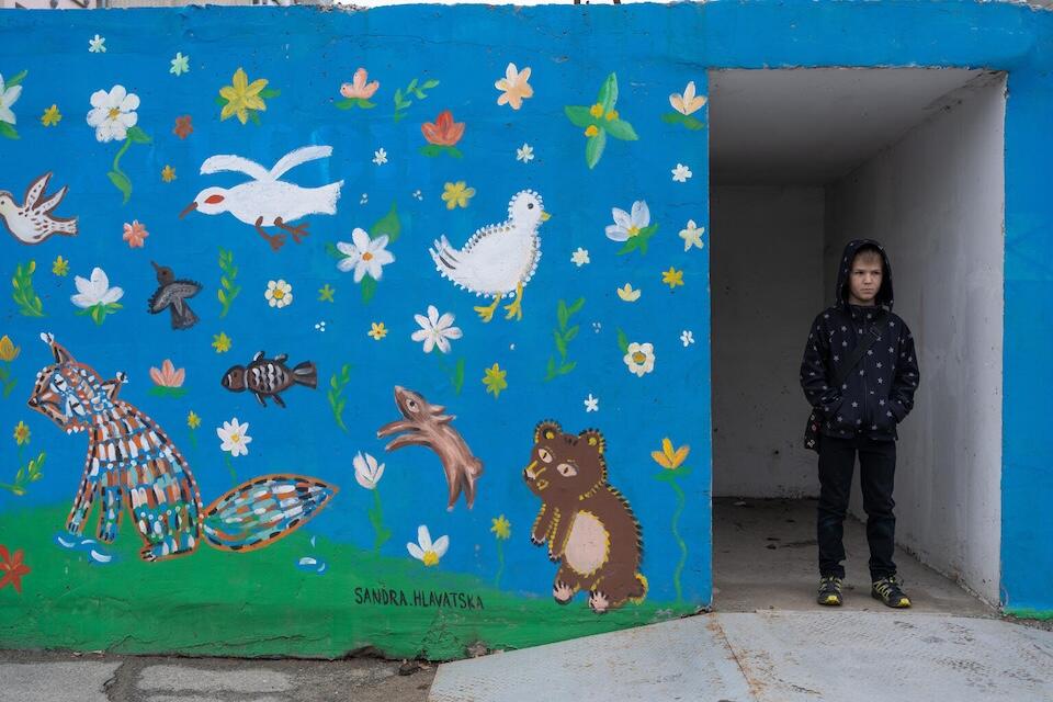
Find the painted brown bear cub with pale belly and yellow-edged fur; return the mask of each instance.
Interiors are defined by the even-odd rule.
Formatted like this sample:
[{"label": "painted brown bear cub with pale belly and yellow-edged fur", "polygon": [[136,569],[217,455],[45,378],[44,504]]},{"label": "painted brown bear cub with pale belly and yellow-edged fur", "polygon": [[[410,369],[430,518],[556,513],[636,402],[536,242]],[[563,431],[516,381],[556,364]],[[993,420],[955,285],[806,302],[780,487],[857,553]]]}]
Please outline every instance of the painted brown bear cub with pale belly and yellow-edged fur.
[{"label": "painted brown bear cub with pale belly and yellow-edged fur", "polygon": [[566,604],[578,590],[597,613],[625,600],[642,600],[647,579],[639,573],[643,542],[629,502],[607,482],[603,435],[587,429],[567,434],[543,421],[534,431],[523,480],[541,498],[531,541],[548,542],[559,563],[552,596]]}]

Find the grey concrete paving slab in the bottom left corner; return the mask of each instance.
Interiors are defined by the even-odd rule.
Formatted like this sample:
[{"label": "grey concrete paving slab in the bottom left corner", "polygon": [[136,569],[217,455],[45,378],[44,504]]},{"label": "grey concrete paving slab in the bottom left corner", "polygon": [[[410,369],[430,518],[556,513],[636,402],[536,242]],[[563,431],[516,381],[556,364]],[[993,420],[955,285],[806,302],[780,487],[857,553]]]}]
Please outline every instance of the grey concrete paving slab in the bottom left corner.
[{"label": "grey concrete paving slab in the bottom left corner", "polygon": [[106,702],[103,688],[120,663],[0,664],[0,702]]}]

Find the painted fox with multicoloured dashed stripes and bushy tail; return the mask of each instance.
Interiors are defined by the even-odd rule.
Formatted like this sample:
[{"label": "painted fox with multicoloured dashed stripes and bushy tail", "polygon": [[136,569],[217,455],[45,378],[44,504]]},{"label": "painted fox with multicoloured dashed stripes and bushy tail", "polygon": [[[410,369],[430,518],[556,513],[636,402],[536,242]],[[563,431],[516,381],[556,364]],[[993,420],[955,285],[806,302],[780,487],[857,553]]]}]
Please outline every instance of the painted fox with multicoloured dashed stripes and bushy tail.
[{"label": "painted fox with multicoloured dashed stripes and bushy tail", "polygon": [[190,466],[165,430],[117,398],[125,375],[103,381],[52,335],[41,338],[55,363],[37,373],[30,407],[66,433],[88,432],[84,475],[66,520],[69,533],[83,533],[98,497],[100,541],[113,542],[126,507],[143,537],[144,561],[193,553],[202,537],[224,551],[252,551],[295,531],[337,494],[315,478],[267,475],[202,507]]}]

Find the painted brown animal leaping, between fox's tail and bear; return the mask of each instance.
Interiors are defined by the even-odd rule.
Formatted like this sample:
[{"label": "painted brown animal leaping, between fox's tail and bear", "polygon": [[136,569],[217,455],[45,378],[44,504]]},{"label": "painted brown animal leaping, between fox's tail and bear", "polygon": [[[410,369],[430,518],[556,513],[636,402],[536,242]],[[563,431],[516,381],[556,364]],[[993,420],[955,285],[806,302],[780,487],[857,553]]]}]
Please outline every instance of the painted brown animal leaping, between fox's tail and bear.
[{"label": "painted brown animal leaping, between fox's tail and bear", "polygon": [[395,405],[405,419],[384,424],[376,431],[378,439],[395,433],[406,432],[395,437],[386,446],[387,451],[395,451],[403,446],[428,446],[438,454],[442,462],[442,469],[446,474],[446,486],[450,488],[450,501],[446,510],[452,511],[457,498],[464,490],[464,499],[468,509],[475,503],[475,482],[483,475],[483,462],[472,454],[468,444],[456,429],[453,428],[453,415],[446,415],[442,405],[431,405],[420,393],[395,386]]}]

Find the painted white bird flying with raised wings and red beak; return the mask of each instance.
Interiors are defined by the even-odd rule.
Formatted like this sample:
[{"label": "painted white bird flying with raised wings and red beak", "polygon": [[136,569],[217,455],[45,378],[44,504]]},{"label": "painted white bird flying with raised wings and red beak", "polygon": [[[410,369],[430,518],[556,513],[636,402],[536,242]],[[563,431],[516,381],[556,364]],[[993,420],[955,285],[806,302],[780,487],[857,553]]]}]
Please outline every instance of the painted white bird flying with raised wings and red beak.
[{"label": "painted white bird flying with raised wings and red beak", "polygon": [[201,165],[203,174],[237,171],[251,176],[254,180],[234,188],[206,188],[197,193],[194,202],[186,205],[179,216],[184,217],[194,210],[206,215],[229,212],[237,219],[253,225],[257,233],[267,239],[275,251],[285,244],[285,235],[268,234],[263,227],[284,229],[299,244],[308,234],[307,224],[291,227],[288,223],[307,215],[336,214],[343,181],[320,188],[302,188],[279,179],[301,163],[331,155],[331,146],[305,146],[280,158],[271,170],[240,156],[211,156]]}]

